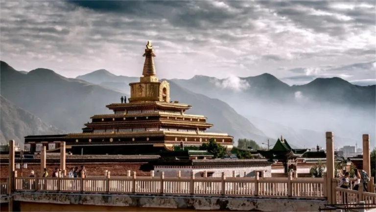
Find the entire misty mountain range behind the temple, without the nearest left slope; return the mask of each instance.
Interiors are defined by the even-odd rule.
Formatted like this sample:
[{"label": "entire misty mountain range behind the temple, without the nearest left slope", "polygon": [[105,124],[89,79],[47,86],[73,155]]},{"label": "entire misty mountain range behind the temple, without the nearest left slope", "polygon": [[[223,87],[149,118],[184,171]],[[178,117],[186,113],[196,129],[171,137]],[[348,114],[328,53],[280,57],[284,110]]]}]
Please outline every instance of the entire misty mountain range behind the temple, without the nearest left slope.
[{"label": "entire misty mountain range behind the temple, without the nearest left slope", "polygon": [[[80,132],[92,115],[110,113],[105,105],[128,96],[128,84],[139,81],[104,69],[76,79],[42,68],[20,72],[2,61],[0,70],[1,96],[66,132]],[[325,145],[326,131],[334,131],[341,145],[361,142],[362,133],[375,134],[375,85],[330,78],[290,86],[270,74],[168,81],[172,101],[192,105],[187,113],[205,115],[214,124],[210,131],[227,132],[235,140],[273,143],[283,135],[293,146],[308,148]],[[1,116],[2,122],[8,119]],[[1,134],[6,131],[11,129],[1,125]]]}]

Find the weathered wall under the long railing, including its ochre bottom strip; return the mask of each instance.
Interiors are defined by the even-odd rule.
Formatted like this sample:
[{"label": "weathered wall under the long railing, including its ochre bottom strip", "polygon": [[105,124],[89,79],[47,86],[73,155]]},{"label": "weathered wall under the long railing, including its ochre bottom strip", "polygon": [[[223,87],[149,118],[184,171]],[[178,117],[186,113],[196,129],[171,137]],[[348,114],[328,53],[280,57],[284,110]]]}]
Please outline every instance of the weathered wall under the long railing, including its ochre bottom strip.
[{"label": "weathered wall under the long railing, including its ochre bottom strip", "polygon": [[326,200],[162,195],[15,193],[18,211],[318,211]]}]

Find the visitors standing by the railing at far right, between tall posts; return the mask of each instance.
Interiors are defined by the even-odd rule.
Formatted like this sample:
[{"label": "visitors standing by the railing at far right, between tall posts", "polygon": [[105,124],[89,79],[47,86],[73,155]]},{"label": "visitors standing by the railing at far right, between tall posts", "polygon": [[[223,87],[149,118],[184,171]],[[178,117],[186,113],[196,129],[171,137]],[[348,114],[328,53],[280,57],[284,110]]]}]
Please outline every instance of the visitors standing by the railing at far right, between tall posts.
[{"label": "visitors standing by the railing at far right, between tall posts", "polygon": [[[366,171],[362,169],[354,169],[354,187],[353,190],[359,190],[359,184],[363,184],[363,190],[368,192],[367,190],[367,183],[370,181],[370,176],[367,174]],[[350,172],[346,172],[345,175],[342,177],[339,187],[350,189]]]}]

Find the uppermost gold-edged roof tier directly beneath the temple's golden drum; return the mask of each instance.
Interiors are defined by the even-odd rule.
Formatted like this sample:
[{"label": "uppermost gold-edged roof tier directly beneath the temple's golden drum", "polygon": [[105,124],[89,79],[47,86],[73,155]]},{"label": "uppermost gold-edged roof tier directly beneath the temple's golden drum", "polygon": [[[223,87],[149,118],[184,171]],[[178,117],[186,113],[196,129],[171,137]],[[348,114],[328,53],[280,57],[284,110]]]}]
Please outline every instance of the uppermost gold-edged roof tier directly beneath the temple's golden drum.
[{"label": "uppermost gold-edged roof tier directly beneath the temple's golden drum", "polygon": [[112,103],[106,107],[109,109],[116,108],[135,108],[142,106],[160,106],[164,108],[175,108],[175,109],[189,109],[192,106],[182,103],[167,103],[161,101],[144,101],[144,102],[130,102],[130,103]]}]

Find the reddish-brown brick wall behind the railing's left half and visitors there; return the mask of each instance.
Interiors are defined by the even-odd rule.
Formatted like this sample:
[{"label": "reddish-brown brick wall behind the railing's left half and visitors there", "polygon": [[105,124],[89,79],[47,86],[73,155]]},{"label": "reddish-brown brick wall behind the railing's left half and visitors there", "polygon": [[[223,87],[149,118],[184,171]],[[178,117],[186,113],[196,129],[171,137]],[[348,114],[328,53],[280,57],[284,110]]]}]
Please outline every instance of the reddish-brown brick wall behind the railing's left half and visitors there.
[{"label": "reddish-brown brick wall behind the railing's left half and visitors there", "polygon": [[[146,162],[118,162],[118,163],[80,163],[80,164],[66,164],[67,168],[67,175],[69,169],[74,166],[80,167],[80,165],[85,165],[85,169],[87,169],[88,176],[104,176],[104,172],[106,170],[111,171],[111,176],[126,176],[127,171],[131,170],[133,173],[136,172],[137,176],[150,176],[149,171],[141,171],[141,165],[145,164]],[[55,167],[60,167],[60,164],[54,163],[47,163],[47,170],[48,175],[51,176],[52,172]],[[28,163],[27,169],[23,168],[23,176],[29,176],[31,170],[34,170],[35,173],[40,174],[40,164],[39,163]],[[21,176],[21,169],[16,169],[17,175]],[[9,175],[9,164],[1,163],[0,164],[0,174],[1,179],[7,178]]]}]

